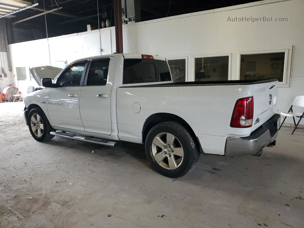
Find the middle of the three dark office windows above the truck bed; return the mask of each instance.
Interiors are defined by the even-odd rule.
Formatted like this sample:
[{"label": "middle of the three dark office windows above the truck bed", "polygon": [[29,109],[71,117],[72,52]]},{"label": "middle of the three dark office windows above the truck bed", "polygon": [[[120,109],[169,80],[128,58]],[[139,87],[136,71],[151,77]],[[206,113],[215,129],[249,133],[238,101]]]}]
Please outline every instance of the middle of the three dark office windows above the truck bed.
[{"label": "middle of the three dark office windows above the truck bed", "polygon": [[195,58],[195,81],[228,80],[229,56]]}]

